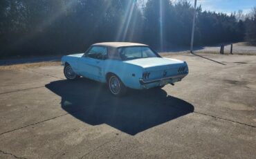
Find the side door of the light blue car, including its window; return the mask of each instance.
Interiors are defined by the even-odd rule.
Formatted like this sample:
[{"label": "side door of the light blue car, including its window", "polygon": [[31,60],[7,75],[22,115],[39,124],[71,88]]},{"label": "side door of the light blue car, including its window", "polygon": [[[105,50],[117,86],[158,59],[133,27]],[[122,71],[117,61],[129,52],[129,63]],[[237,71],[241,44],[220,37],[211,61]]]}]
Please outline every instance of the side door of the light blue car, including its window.
[{"label": "side door of the light blue car, including its window", "polygon": [[104,59],[107,57],[107,47],[92,46],[79,60],[78,68],[82,76],[102,81]]}]

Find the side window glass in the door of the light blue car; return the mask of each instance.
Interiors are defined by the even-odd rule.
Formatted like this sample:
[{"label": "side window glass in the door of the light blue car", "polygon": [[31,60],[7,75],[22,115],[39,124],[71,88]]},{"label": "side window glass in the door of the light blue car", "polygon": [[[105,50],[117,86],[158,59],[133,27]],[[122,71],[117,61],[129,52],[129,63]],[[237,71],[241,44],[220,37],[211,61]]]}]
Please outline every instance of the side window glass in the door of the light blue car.
[{"label": "side window glass in the door of the light blue car", "polygon": [[103,46],[93,46],[88,51],[87,57],[91,57],[93,59],[106,59],[107,48]]}]

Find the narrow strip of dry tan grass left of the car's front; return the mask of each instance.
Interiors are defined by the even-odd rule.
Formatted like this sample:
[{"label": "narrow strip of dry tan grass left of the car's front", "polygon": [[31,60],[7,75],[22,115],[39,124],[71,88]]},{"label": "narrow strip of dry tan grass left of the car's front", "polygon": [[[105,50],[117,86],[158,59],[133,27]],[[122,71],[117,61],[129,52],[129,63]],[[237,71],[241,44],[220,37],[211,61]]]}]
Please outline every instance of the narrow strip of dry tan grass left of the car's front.
[{"label": "narrow strip of dry tan grass left of the car's front", "polygon": [[35,62],[29,64],[13,64],[9,66],[0,66],[0,70],[19,70],[24,68],[33,68],[41,66],[60,66],[61,62]]}]

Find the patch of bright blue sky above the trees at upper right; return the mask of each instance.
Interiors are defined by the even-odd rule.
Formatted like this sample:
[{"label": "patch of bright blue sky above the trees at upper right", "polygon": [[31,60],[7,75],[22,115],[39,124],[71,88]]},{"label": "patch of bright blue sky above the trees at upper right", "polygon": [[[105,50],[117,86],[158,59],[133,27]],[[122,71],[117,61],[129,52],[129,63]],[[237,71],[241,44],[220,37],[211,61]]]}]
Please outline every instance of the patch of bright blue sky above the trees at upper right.
[{"label": "patch of bright blue sky above the trees at upper right", "polygon": [[[194,5],[194,0],[189,1]],[[227,14],[237,12],[238,10],[243,10],[243,13],[246,14],[254,6],[256,7],[256,0],[197,0],[197,3],[202,6],[203,10],[224,12]]]}]

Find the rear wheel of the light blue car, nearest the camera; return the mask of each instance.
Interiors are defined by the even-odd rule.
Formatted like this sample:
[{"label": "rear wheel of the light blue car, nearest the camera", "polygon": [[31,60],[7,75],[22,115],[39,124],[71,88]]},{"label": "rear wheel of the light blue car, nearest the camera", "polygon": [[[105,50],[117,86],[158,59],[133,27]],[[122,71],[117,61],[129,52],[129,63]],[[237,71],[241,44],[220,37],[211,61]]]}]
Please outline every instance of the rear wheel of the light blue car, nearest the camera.
[{"label": "rear wheel of the light blue car, nearest the camera", "polygon": [[108,87],[112,95],[121,97],[127,92],[127,87],[122,83],[120,78],[116,75],[110,75],[108,78]]}]

